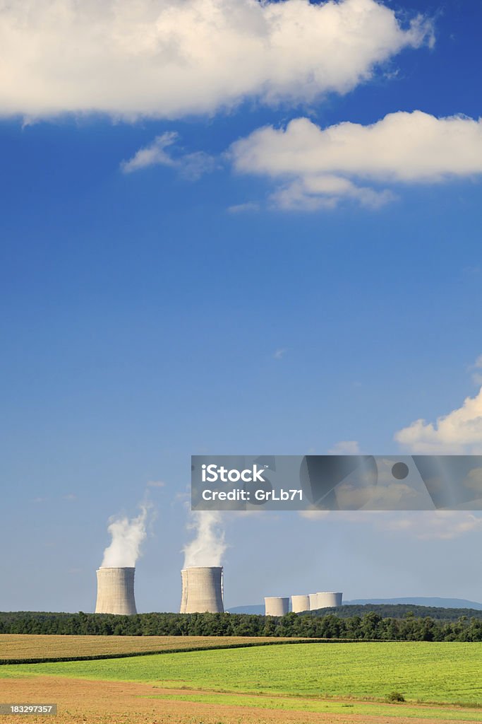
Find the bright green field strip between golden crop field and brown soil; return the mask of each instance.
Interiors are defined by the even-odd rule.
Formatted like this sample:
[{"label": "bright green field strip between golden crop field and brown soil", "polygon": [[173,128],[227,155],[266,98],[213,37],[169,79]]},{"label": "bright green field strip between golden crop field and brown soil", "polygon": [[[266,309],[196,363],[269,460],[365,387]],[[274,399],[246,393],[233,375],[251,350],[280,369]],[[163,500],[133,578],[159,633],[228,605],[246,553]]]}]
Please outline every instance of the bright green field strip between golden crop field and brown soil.
[{"label": "bright green field strip between golden crop field and brown soil", "polygon": [[48,674],[146,681],[164,688],[358,699],[383,699],[395,690],[411,702],[482,704],[481,671],[482,644],[403,641],[20,664],[0,667],[0,677]]}]

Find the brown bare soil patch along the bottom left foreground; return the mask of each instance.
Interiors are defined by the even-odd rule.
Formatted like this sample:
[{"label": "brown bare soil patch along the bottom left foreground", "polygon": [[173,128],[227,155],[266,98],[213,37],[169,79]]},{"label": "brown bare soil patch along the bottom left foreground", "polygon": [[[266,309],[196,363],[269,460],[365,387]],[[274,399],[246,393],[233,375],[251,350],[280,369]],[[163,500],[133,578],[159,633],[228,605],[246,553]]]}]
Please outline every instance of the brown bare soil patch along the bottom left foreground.
[{"label": "brown bare soil patch along the bottom left foreground", "polygon": [[[159,689],[145,683],[51,676],[1,681],[2,702],[59,704],[58,715],[29,715],[28,724],[444,724],[445,721],[403,716],[261,710],[256,707],[140,698],[163,693],[182,696],[195,692]],[[3,716],[1,724],[18,724],[21,719],[23,717]]]}]

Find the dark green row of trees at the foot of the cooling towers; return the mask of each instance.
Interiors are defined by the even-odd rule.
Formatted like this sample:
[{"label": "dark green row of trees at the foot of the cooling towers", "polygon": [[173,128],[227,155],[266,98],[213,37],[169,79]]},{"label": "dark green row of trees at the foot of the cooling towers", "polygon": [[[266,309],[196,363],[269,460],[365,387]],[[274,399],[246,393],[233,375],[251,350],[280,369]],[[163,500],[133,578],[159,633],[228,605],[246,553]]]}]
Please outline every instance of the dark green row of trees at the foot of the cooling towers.
[{"label": "dark green row of trees at the foot of the cooling towers", "polygon": [[431,616],[383,617],[375,611],[342,618],[287,613],[0,613],[0,633],[61,633],[93,636],[300,636],[356,641],[482,641],[482,620],[456,621]]}]

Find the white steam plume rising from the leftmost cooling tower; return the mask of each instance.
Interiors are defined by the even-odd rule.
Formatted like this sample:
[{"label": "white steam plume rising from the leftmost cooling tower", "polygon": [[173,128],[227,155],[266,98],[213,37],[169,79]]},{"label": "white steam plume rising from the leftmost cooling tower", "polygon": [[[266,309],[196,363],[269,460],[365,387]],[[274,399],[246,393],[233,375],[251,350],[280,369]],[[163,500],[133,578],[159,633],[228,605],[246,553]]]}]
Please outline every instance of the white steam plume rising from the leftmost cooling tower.
[{"label": "white steam plume rising from the leftmost cooling tower", "polygon": [[108,531],[111,544],[104,551],[101,568],[126,568],[136,565],[142,542],[146,537],[147,513],[150,506],[142,504],[137,518],[111,518]]}]

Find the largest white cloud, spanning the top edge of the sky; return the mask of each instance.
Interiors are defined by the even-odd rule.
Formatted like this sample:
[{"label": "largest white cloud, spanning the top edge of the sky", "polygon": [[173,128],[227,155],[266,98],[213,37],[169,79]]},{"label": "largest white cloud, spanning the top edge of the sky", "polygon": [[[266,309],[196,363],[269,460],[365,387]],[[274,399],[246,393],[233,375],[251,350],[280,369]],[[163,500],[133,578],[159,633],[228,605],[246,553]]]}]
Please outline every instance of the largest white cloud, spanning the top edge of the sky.
[{"label": "largest white cloud, spanning the top edge of the sky", "polygon": [[0,5],[0,114],[178,118],[346,93],[433,42],[375,0],[16,0]]}]

